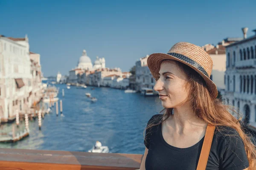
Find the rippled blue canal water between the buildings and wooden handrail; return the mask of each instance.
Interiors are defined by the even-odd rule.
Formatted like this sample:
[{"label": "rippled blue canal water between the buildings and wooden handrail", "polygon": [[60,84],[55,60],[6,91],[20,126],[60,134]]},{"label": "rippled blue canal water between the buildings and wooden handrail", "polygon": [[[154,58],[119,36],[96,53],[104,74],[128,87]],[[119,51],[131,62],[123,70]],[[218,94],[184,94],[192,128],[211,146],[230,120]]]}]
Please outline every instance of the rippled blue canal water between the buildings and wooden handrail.
[{"label": "rippled blue canal water between the buildings and wooden handrail", "polygon": [[[56,87],[64,116],[60,113],[56,116],[54,107],[53,112],[42,119],[41,130],[38,119],[29,121],[29,137],[16,143],[0,143],[0,148],[86,152],[98,140],[108,146],[111,153],[144,153],[143,130],[151,116],[163,109],[158,96],[126,94],[112,88]],[[91,102],[85,93],[98,101]],[[7,126],[11,125],[1,128]]]}]

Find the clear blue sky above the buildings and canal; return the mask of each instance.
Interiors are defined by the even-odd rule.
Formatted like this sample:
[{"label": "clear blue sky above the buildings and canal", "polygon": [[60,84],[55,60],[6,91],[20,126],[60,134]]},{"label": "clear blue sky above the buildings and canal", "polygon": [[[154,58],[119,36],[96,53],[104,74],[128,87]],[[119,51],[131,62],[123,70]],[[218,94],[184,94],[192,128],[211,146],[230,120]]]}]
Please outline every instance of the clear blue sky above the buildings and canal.
[{"label": "clear blue sky above the buildings and canal", "polygon": [[136,60],[180,41],[216,44],[256,28],[256,0],[0,0],[0,34],[24,37],[41,54],[44,76],[92,62],[129,71]]}]

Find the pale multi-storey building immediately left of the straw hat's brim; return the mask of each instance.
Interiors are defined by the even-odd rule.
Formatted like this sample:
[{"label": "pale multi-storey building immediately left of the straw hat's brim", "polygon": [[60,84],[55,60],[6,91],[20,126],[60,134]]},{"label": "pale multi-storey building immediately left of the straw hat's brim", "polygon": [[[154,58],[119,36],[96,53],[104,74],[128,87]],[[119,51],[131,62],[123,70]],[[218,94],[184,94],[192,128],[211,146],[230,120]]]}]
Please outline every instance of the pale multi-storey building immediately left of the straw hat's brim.
[{"label": "pale multi-storey building immediately left of the straw hat's brim", "polygon": [[[142,88],[151,88],[153,90],[155,79],[153,78],[147,64],[148,55],[140,58],[136,62],[136,90],[141,91]],[[158,92],[154,91],[154,94]]]}]

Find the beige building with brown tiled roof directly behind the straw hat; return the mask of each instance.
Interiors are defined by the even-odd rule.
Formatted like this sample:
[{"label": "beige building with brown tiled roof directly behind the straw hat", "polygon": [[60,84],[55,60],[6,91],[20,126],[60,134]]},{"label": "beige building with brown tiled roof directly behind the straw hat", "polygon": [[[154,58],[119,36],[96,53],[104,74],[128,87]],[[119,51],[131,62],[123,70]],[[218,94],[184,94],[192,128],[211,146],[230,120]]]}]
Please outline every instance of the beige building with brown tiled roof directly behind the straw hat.
[{"label": "beige building with brown tiled roof directly behind the straw hat", "polygon": [[224,74],[226,71],[226,46],[231,43],[242,40],[242,38],[226,38],[221,42],[218,42],[216,46],[206,44],[202,46],[205,51],[212,57],[213,67],[210,79],[215,83],[218,91],[225,88],[224,85]]}]

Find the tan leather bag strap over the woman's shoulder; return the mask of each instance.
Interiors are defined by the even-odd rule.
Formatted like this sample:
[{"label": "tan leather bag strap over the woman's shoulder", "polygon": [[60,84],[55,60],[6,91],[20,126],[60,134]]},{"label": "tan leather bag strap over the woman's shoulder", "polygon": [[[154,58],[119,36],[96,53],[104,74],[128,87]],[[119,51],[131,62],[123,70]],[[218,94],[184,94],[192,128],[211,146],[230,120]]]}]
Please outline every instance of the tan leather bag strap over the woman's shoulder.
[{"label": "tan leather bag strap over the woman's shoulder", "polygon": [[215,130],[214,125],[209,125],[209,124],[207,125],[205,136],[204,136],[204,143],[202,146],[202,150],[200,153],[198,166],[197,166],[196,170],[205,170],[205,168],[206,168],[210,149],[212,146],[212,138],[214,135],[214,130]]}]

